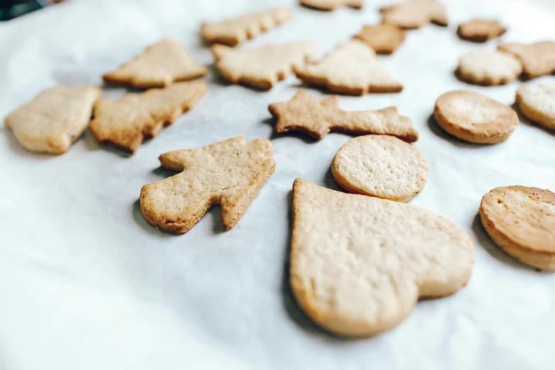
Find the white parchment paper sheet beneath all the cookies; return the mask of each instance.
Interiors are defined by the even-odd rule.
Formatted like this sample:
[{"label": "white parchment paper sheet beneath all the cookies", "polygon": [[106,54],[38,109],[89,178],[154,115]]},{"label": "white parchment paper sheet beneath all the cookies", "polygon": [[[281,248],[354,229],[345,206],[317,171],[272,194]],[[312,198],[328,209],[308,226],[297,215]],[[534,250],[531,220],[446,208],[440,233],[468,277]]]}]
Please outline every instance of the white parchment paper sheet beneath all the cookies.
[{"label": "white parchment paper sheet beneath all the cookies", "polygon": [[[384,1],[332,13],[279,0],[52,6],[0,25],[0,118],[48,86],[101,84],[103,72],[164,36],[211,65],[201,21],[278,4],[291,4],[293,19],[246,45],[314,40],[321,55],[379,21]],[[411,203],[452,218],[476,242],[473,275],[460,293],[418,303],[403,324],[367,340],[313,325],[288,288],[291,184],[302,177],[337,189],[330,161],[349,136],[275,136],[267,105],[290,99],[298,80],[264,93],[228,86],[211,67],[198,106],[134,157],[100,147],[89,133],[65,155],[35,155],[0,129],[0,369],[553,369],[555,275],[506,257],[477,212],[495,186],[554,189],[555,135],[523,120],[507,142],[471,145],[443,133],[430,115],[445,91],[482,91],[511,104],[520,86],[483,88],[454,77],[461,55],[495,47],[456,38],[461,21],[498,18],[509,28],[504,40],[553,39],[554,7],[448,5],[449,28],[412,31],[393,56],[381,57],[403,93],[344,97],[341,106],[395,105],[413,118],[430,178]],[[124,92],[103,89],[114,99]],[[238,135],[271,138],[277,172],[234,229],[223,232],[219,208],[186,235],[145,223],[140,188],[169,175],[158,169],[159,154]]]}]

